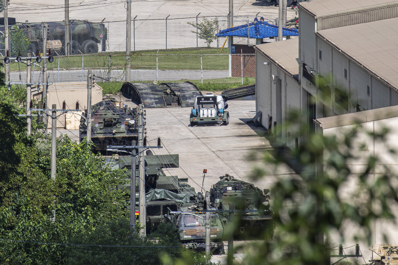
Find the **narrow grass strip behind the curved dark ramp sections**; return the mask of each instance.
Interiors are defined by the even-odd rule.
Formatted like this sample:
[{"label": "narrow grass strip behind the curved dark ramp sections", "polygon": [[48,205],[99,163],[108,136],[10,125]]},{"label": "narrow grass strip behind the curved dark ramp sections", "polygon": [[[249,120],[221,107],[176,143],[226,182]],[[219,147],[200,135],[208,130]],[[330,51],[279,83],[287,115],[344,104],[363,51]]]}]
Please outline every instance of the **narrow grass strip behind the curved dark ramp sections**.
[{"label": "narrow grass strip behind the curved dark ramp sections", "polygon": [[[227,77],[227,78],[219,78],[219,79],[206,79],[203,80],[203,84],[201,83],[201,80],[164,80],[164,81],[158,81],[158,84],[161,83],[178,83],[178,82],[185,82],[185,81],[190,81],[193,84],[195,84],[199,90],[201,91],[221,91],[221,90],[226,90],[229,88],[236,88],[238,86],[244,86],[244,85],[249,85],[249,84],[254,84],[256,82],[255,78],[251,77],[246,77],[243,80],[243,85],[242,85],[242,79],[239,77]],[[152,83],[153,81],[131,81],[131,83]],[[123,82],[97,82],[98,85],[102,87],[102,94],[112,94],[116,95],[119,94],[120,88],[122,87]]]}]

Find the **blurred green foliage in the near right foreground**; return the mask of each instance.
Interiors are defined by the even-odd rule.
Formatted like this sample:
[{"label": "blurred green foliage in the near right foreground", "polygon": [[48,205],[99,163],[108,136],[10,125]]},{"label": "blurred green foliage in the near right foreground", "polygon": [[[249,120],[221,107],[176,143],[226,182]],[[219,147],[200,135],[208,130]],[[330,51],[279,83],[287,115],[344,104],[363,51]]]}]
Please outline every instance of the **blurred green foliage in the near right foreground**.
[{"label": "blurred green foliage in the near right foreground", "polygon": [[[271,188],[275,234],[272,240],[247,245],[245,264],[330,264],[332,238],[356,242],[371,241],[372,224],[378,218],[393,220],[398,205],[395,189],[398,176],[389,166],[377,165],[379,158],[367,150],[365,141],[385,142],[388,129],[367,131],[359,124],[339,135],[311,133],[300,123],[299,111],[293,111],[289,128],[306,137],[296,150],[280,146],[267,152],[263,168],[253,177],[264,177],[285,163],[297,175],[279,177]],[[275,143],[276,144],[276,143]],[[386,146],[386,153],[396,159],[396,150]],[[366,155],[365,155],[366,154]],[[352,161],[365,161],[358,171]],[[352,182],[356,185],[352,185]],[[349,184],[351,183],[351,184]],[[347,235],[346,224],[357,229]],[[264,238],[265,239],[265,238]]]}]

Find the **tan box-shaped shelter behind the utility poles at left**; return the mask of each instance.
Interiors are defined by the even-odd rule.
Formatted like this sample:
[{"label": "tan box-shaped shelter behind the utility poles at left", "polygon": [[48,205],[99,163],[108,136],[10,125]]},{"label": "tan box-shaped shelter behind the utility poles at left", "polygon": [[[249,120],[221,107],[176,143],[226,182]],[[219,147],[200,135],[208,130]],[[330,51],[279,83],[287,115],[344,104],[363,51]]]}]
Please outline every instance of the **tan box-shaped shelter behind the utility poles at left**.
[{"label": "tan box-shaped shelter behind the utility poles at left", "polygon": [[[42,87],[32,87],[32,100],[40,101]],[[94,83],[91,92],[91,102],[96,104],[102,100],[102,88]],[[79,109],[84,111],[87,108],[87,84],[83,82],[53,83],[47,90],[47,104],[51,108],[57,104],[57,109],[62,109],[62,102],[65,100],[66,109],[75,109],[76,101],[79,101]],[[57,118],[57,128],[68,130],[79,129],[80,116],[74,113],[65,113]],[[60,114],[60,113],[59,113]],[[77,114],[82,114],[78,112]],[[51,128],[51,119],[48,121],[48,128]]]}]

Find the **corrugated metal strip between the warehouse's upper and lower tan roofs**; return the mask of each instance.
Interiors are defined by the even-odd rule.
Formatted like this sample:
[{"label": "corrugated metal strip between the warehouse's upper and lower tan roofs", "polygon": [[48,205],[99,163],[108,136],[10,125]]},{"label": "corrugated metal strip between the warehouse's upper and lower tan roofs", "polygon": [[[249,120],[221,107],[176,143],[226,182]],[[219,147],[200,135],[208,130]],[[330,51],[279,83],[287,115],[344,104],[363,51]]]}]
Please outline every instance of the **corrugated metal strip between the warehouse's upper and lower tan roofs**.
[{"label": "corrugated metal strip between the warehouse's upper and lower tan roofs", "polygon": [[348,14],[339,14],[327,18],[318,18],[317,29],[332,29],[335,27],[343,27],[396,17],[398,17],[398,5],[385,6],[372,10],[363,10]]}]

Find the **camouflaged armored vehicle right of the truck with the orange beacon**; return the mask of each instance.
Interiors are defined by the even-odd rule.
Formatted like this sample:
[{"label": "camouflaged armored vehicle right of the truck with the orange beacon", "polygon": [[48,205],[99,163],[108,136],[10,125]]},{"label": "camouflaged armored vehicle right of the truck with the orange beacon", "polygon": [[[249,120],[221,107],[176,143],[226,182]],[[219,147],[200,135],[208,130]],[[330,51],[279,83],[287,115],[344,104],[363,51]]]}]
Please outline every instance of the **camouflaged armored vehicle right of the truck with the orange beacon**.
[{"label": "camouflaged armored vehicle right of the truck with the orange beacon", "polygon": [[[228,210],[234,206],[235,217],[240,223],[234,235],[239,239],[253,239],[262,233],[273,236],[272,211],[269,206],[269,189],[261,191],[252,183],[236,179],[228,174],[210,189],[210,202],[213,207],[225,210],[221,214],[228,223]],[[243,238],[242,238],[243,237]]]}]

